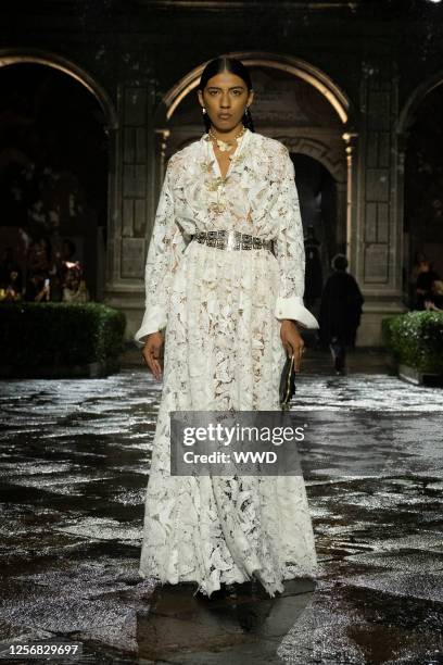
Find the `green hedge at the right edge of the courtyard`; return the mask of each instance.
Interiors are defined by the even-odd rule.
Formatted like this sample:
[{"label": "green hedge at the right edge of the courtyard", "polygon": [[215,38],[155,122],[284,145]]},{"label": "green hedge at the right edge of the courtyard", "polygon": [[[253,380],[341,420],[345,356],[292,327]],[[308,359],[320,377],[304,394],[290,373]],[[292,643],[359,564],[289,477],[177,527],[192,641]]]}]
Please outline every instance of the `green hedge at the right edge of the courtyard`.
[{"label": "green hedge at the right edge of the courtyard", "polygon": [[383,340],[398,364],[443,374],[443,312],[408,312],[382,321]]}]

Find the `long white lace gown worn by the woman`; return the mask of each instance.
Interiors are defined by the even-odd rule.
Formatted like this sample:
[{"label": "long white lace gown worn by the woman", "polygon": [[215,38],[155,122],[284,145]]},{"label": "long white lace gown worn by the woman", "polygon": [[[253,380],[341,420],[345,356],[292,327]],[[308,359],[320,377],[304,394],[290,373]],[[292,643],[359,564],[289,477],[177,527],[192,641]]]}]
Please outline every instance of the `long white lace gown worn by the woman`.
[{"label": "long white lace gown worn by the woman", "polygon": [[[275,240],[225,250],[190,241],[237,229]],[[139,574],[162,584],[315,577],[302,476],[170,476],[170,411],[279,410],[280,319],[318,327],[303,305],[304,246],[294,167],[279,141],[246,129],[225,178],[207,134],[167,165],[135,339],[165,329],[163,391],[145,497]],[[195,592],[197,592],[195,591]]]}]

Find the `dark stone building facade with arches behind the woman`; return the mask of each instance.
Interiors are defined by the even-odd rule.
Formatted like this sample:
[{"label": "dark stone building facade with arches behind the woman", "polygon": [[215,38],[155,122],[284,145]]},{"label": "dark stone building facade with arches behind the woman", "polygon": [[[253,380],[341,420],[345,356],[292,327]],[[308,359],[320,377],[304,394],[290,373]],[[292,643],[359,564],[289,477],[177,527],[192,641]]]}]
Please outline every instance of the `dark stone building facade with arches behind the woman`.
[{"label": "dark stone building facade with arches behind the woman", "polygon": [[[125,312],[128,338],[142,317],[165,164],[201,137],[200,74],[228,54],[251,68],[256,130],[293,156],[325,267],[334,252],[349,255],[365,296],[358,344],[381,343],[382,318],[406,309],[421,249],[405,227],[405,159],[418,109],[443,81],[438,3],[37,4],[3,15],[0,76],[39,64],[97,100],[109,151],[102,299]],[[438,262],[443,235],[433,246]]]}]

